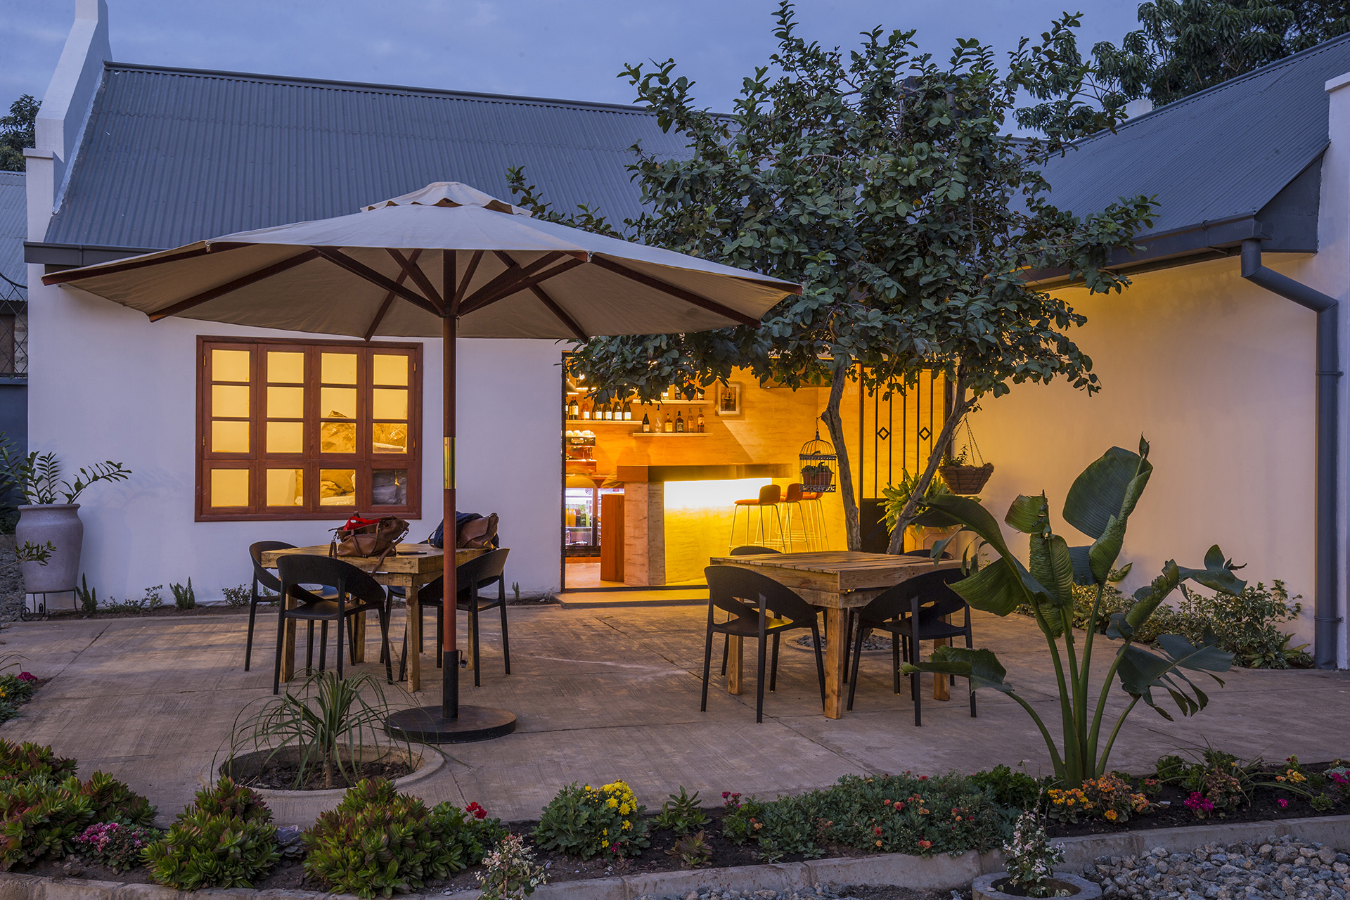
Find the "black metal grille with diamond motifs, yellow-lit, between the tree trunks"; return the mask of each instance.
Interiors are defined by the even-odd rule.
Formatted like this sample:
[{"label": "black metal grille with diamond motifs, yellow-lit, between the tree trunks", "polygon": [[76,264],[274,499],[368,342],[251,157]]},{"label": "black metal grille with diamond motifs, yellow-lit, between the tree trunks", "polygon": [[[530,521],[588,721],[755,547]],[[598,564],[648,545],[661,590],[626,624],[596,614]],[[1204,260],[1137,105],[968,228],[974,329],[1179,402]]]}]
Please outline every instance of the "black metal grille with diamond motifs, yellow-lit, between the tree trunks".
[{"label": "black metal grille with diamond motifs, yellow-lit, between the tree trunks", "polygon": [[882,497],[882,488],[909,471],[921,471],[946,421],[946,379],[921,372],[918,383],[859,391],[859,495]]}]

